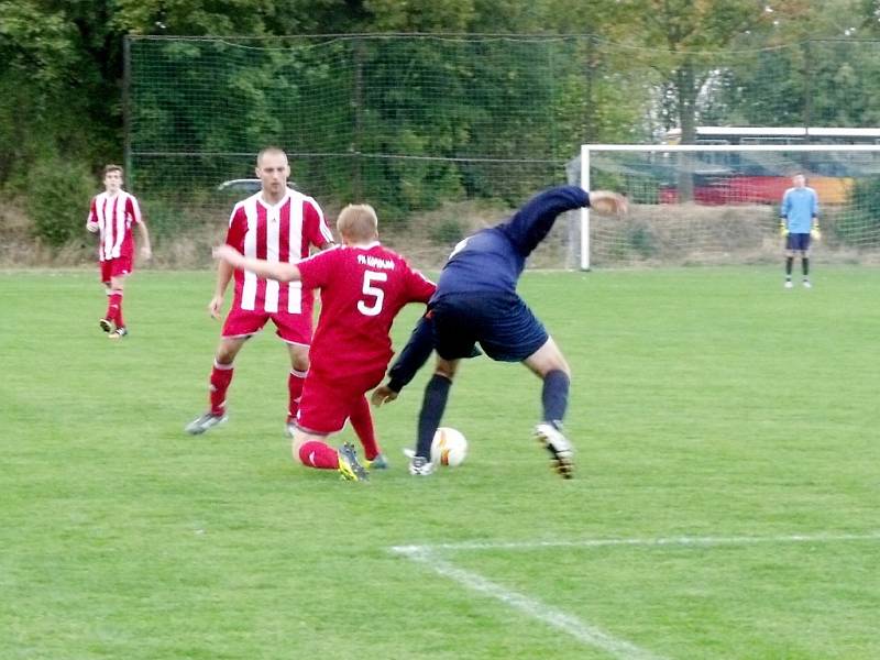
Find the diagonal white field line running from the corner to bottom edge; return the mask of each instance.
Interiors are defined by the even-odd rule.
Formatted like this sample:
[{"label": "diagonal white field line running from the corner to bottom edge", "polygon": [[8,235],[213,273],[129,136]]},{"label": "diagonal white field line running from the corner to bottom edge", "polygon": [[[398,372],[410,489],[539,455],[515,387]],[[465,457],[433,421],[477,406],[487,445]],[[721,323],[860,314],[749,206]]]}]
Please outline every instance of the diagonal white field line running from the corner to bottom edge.
[{"label": "diagonal white field line running from the corner to bottom edge", "polygon": [[427,546],[395,547],[392,548],[392,550],[413,561],[426,564],[429,569],[443,578],[449,578],[472,591],[497,598],[505,605],[509,605],[514,609],[519,609],[531,618],[543,622],[550,627],[563,632],[568,632],[579,641],[601,649],[614,658],[625,658],[627,660],[662,660],[659,656],[640,649],[625,639],[613,637],[595,626],[585,624],[570,614],[565,614],[561,609],[550,607],[540,601],[505,588],[486,580],[479,573],[460,569],[437,556]]}]

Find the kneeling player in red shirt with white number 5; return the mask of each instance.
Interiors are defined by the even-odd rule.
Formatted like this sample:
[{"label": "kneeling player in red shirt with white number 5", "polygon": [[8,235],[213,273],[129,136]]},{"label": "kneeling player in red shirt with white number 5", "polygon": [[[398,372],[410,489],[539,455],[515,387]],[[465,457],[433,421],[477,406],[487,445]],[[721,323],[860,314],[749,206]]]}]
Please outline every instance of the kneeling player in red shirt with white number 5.
[{"label": "kneeling player in red shirt with white number 5", "polygon": [[339,450],[327,437],[355,414],[370,414],[366,393],[382,382],[393,355],[395,316],[407,302],[428,302],[435,285],[378,242],[376,213],[367,205],[342,209],[337,229],[343,245],[297,264],[246,258],[229,245],[215,257],[278,282],[321,289],[321,315],[310,349],[294,429],[294,460],[319,470],[339,470],[346,480],[367,479],[350,443]]}]

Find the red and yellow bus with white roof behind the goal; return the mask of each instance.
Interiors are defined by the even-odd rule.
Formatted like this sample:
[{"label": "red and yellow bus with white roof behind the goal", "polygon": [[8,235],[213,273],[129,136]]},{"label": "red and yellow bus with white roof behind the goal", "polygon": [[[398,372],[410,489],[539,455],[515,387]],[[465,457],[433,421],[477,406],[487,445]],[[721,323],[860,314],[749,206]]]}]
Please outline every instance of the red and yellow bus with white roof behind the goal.
[{"label": "red and yellow bus with white roof behind the goal", "polygon": [[[668,131],[664,144],[681,144],[681,129]],[[776,144],[780,147],[787,144],[880,144],[880,129],[697,127],[696,144]],[[807,176],[809,185],[823,204],[845,204],[853,189],[851,165],[864,167],[866,158],[876,160],[878,155],[850,153],[828,157],[827,152],[801,153],[792,158],[796,164],[790,162],[785,166],[779,162],[779,152],[705,152],[705,158],[700,154],[694,166],[694,201],[703,205],[779,204],[791,186],[793,170],[798,169]],[[675,185],[661,187],[659,198],[661,204],[678,202]]]}]

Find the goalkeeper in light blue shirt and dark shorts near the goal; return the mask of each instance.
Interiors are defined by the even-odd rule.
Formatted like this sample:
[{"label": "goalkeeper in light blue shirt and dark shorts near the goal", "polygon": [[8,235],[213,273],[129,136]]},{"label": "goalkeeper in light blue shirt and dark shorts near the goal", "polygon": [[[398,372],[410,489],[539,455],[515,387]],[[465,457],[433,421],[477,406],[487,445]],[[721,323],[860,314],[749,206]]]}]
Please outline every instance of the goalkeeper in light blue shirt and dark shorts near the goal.
[{"label": "goalkeeper in light blue shirt and dark shorts near the goal", "polygon": [[822,238],[818,229],[818,196],[798,173],[792,177],[794,187],[785,190],[779,209],[779,233],[785,239],[785,288],[791,288],[791,270],[796,253],[801,254],[804,286],[810,288],[810,239]]}]

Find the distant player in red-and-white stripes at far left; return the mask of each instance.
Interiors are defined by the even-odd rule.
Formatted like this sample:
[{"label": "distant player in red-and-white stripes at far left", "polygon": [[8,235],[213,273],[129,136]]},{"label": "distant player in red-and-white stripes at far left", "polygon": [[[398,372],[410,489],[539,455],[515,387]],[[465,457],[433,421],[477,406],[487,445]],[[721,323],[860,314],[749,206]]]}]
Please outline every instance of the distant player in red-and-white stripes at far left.
[{"label": "distant player in red-and-white stripes at far left", "polygon": [[129,333],[122,317],[122,294],[125,278],[134,270],[132,226],[141,232],[141,256],[148,260],[153,251],[138,199],[122,189],[122,167],[107,165],[103,168],[103,187],[105,191],[91,199],[86,229],[100,238],[98,261],[108,297],[107,312],[98,324],[110,332],[110,339],[121,339]]}]

